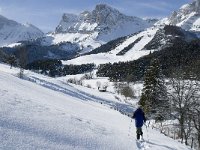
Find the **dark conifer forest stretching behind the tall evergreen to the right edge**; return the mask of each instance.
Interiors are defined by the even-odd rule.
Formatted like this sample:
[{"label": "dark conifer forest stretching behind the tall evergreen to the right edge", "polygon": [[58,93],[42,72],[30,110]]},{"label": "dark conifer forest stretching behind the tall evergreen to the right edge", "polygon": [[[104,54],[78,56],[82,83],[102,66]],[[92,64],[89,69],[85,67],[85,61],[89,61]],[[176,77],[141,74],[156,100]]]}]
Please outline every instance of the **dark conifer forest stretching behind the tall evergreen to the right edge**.
[{"label": "dark conifer forest stretching behind the tall evergreen to the right edge", "polygon": [[149,55],[135,61],[100,65],[97,75],[109,77],[111,81],[144,80],[145,70],[154,58],[159,60],[166,77],[171,77],[174,70],[181,68],[186,74],[185,78],[190,78],[190,72],[200,78],[200,40],[187,43],[181,39],[177,39],[170,47],[150,52]]}]

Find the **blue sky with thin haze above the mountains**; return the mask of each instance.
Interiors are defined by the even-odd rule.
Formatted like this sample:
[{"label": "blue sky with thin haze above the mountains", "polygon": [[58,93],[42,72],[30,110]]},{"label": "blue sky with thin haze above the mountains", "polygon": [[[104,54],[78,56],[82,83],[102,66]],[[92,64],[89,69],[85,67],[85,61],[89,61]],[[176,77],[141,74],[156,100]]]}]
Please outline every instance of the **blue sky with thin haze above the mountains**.
[{"label": "blue sky with thin haze above the mountains", "polygon": [[20,23],[32,23],[44,32],[53,31],[63,13],[78,14],[104,3],[138,17],[161,18],[192,0],[0,0],[0,14]]}]

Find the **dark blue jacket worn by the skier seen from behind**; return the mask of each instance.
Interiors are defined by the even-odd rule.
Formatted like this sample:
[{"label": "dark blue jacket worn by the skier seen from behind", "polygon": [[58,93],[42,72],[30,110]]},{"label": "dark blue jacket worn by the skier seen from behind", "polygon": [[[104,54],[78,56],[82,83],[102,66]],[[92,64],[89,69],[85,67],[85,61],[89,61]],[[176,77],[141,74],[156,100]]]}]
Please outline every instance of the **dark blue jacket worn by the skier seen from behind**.
[{"label": "dark blue jacket worn by the skier seen from behind", "polygon": [[144,112],[142,111],[141,108],[138,108],[134,114],[133,117],[135,119],[135,126],[137,128],[141,128],[144,124],[144,122],[146,122],[146,118],[144,116]]}]

